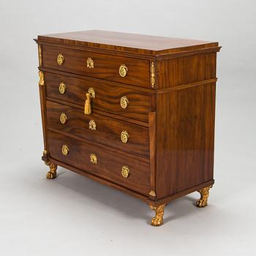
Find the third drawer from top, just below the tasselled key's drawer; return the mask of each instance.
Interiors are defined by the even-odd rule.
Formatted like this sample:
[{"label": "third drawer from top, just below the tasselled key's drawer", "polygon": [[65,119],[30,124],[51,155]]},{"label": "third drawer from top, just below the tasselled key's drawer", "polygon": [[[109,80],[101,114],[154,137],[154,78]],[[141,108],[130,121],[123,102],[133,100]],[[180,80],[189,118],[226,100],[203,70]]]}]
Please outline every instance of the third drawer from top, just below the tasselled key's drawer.
[{"label": "third drawer from top, just below the tasselled key's drawer", "polygon": [[[97,143],[149,157],[148,128],[55,102],[46,102],[47,126]],[[121,140],[122,137],[122,140]]]}]

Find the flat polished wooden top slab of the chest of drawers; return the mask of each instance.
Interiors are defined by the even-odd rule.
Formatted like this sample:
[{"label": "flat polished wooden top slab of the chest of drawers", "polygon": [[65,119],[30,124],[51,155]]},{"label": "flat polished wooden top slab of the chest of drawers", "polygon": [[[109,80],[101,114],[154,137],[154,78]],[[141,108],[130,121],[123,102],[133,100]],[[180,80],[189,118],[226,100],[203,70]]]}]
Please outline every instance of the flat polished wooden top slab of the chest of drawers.
[{"label": "flat polished wooden top slab of the chest of drawers", "polygon": [[198,50],[218,46],[218,42],[100,30],[40,35],[38,41],[144,54],[178,53],[184,50]]}]

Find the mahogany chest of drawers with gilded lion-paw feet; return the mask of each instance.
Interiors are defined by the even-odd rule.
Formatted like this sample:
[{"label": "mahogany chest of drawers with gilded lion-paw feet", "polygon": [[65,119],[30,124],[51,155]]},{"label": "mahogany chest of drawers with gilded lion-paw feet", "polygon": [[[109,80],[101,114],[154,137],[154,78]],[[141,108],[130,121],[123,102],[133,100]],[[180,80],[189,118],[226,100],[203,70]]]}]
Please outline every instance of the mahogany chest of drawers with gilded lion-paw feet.
[{"label": "mahogany chest of drawers with gilded lion-paw feet", "polygon": [[80,31],[38,36],[47,178],[57,166],[144,200],[214,184],[218,42]]}]

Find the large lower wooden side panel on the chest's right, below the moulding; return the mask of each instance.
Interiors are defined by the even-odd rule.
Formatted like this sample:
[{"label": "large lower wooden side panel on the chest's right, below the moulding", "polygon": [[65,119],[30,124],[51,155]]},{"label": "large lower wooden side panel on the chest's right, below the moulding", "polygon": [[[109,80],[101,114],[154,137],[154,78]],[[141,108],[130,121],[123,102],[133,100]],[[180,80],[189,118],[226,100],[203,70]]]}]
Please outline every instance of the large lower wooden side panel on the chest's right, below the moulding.
[{"label": "large lower wooden side panel on the chest's right, below the moulding", "polygon": [[157,95],[157,199],[213,179],[215,83]]}]

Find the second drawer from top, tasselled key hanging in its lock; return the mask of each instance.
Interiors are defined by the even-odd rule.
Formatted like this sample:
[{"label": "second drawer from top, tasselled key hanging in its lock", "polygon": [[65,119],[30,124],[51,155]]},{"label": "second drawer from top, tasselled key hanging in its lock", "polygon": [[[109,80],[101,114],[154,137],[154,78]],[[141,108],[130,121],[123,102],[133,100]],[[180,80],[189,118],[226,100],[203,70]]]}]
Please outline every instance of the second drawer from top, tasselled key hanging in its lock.
[{"label": "second drawer from top, tasselled key hanging in its lock", "polygon": [[[91,109],[102,110],[118,116],[134,118],[138,121],[148,122],[151,95],[141,91],[111,86],[91,80],[72,78],[66,75],[56,75],[45,72],[46,97],[60,99],[64,102],[75,103],[84,107],[86,93],[92,88],[95,98],[91,99]],[[60,92],[60,84],[64,91]],[[127,105],[121,107],[121,100],[128,100]],[[127,108],[124,108],[127,107]]]}]

